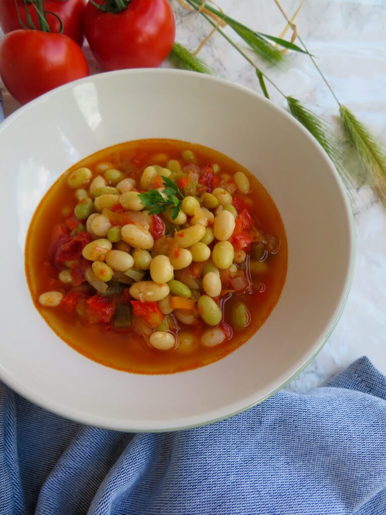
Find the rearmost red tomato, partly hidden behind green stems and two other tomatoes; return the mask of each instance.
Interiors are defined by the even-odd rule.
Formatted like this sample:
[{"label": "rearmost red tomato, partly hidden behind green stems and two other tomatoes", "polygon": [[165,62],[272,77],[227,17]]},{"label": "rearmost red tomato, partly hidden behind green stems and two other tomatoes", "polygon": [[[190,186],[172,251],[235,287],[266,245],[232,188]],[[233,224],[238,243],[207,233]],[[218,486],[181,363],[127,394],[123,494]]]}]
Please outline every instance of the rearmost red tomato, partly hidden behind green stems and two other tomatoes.
[{"label": "rearmost red tomato, partly hidden behind green stems and two other tomatoes", "polygon": [[[20,17],[27,27],[27,14],[25,11],[24,0],[16,0],[19,7]],[[82,15],[86,0],[46,0],[45,10],[53,12],[63,23],[63,34],[73,39],[82,46],[84,35],[82,28]],[[33,24],[38,28],[38,15],[31,2],[27,2],[27,9],[31,15]],[[59,32],[60,23],[55,16],[47,13],[47,22],[51,32]],[[6,34],[11,30],[21,29],[15,0],[0,0],[0,27]]]}]

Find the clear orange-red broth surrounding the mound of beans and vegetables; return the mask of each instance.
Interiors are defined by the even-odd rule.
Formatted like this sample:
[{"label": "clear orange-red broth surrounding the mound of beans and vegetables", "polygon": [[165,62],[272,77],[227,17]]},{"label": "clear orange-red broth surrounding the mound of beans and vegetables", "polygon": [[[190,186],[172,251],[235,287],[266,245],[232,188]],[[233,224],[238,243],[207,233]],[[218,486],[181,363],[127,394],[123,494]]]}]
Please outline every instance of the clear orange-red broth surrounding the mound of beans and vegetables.
[{"label": "clear orange-red broth surrounding the mound of beans and vegetables", "polygon": [[[236,193],[235,196],[246,199],[248,210],[258,221],[259,226],[278,238],[279,248],[276,253],[269,255],[266,262],[267,270],[252,277],[254,285],[252,292],[233,293],[220,300],[223,322],[229,325],[231,325],[233,306],[239,301],[244,302],[251,314],[248,327],[242,331],[234,329],[230,340],[225,339],[215,347],[208,348],[198,344],[193,352],[187,354],[180,352],[178,347],[165,352],[151,348],[132,330],[110,330],[108,324],[86,323],[75,314],[67,313],[60,306],[47,308],[40,305],[38,298],[44,291],[55,289],[65,294],[70,289],[58,279],[58,269],[50,263],[47,253],[52,229],[56,224],[69,218],[67,214],[63,216],[62,210],[66,209],[71,215],[77,202],[74,190],[66,184],[68,175],[82,166],[94,171],[96,164],[108,162],[123,171],[125,175],[139,179],[142,171],[149,164],[166,166],[170,159],[186,162],[181,159],[181,152],[186,148],[194,151],[201,166],[207,163],[219,164],[220,174],[233,175],[238,170],[243,171],[253,186],[252,192],[247,195]],[[160,153],[168,155],[166,163],[152,159]],[[209,246],[212,247],[212,245]],[[135,373],[171,373],[194,369],[213,363],[237,349],[261,327],[270,315],[282,291],[286,270],[287,241],[283,222],[265,188],[248,170],[221,153],[201,145],[173,140],[122,143],[103,149],[74,165],[51,186],[40,202],[32,218],[26,243],[26,275],[31,296],[50,327],[62,340],[81,354],[102,365]],[[194,334],[198,340],[202,330],[208,328],[201,318],[195,327],[189,327],[180,322],[179,325],[184,331]]]}]

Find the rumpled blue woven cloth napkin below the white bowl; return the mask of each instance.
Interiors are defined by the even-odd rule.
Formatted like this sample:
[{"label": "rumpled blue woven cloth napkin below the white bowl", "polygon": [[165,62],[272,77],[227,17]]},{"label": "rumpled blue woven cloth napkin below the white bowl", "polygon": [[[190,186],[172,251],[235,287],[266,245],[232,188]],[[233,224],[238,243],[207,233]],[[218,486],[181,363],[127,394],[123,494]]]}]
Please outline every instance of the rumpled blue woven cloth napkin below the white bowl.
[{"label": "rumpled blue woven cloth napkin below the white bowl", "polygon": [[358,359],[179,433],[86,427],[0,383],[0,513],[384,515],[386,377]]}]

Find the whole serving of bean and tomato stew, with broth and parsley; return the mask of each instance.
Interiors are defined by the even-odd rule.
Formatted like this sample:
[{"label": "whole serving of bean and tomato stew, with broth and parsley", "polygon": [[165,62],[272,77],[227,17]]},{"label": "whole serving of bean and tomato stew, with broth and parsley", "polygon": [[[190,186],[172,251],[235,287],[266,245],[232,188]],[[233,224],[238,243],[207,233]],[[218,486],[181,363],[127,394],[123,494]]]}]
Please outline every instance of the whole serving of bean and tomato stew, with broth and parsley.
[{"label": "whole serving of bean and tomato stew, with broth and parsley", "polygon": [[257,180],[217,152],[167,140],[79,163],[43,199],[27,241],[49,323],[97,361],[141,372],[234,350],[272,310],[286,260]]}]

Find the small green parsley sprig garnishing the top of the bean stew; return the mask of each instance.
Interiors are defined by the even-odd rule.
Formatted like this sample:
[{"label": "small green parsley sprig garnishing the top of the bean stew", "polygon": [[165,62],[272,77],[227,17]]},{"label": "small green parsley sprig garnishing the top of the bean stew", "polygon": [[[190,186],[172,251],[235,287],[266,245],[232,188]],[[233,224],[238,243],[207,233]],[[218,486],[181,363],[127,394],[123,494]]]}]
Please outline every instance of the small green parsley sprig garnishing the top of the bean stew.
[{"label": "small green parsley sprig garnishing the top of the bean stew", "polygon": [[138,198],[142,203],[149,208],[149,214],[157,215],[158,213],[166,213],[170,209],[170,216],[175,220],[181,209],[181,202],[185,198],[184,194],[168,177],[163,177],[165,190],[163,193],[166,195],[164,198],[157,190],[149,190],[148,192],[140,193]]}]

